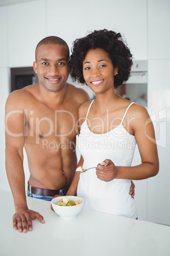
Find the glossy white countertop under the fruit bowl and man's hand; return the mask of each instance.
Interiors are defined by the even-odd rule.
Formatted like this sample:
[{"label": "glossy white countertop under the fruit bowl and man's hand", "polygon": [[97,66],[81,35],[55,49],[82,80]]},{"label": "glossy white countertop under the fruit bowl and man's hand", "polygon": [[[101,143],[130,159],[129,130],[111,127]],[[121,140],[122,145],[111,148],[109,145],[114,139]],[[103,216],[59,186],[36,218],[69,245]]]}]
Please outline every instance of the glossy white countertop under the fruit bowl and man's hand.
[{"label": "glossy white countertop under the fruit bowl and man's hand", "polygon": [[82,209],[74,220],[61,220],[49,201],[28,197],[29,208],[46,221],[33,230],[14,231],[11,192],[0,190],[1,256],[169,256],[170,227]]}]

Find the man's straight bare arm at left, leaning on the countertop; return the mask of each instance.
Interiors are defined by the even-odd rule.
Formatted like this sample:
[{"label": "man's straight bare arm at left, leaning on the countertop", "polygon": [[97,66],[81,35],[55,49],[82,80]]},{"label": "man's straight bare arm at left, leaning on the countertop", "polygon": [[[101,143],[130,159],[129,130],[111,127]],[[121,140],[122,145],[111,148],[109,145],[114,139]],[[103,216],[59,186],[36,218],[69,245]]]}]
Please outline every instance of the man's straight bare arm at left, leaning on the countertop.
[{"label": "man's straight bare arm at left, leaning on the countertop", "polygon": [[32,231],[32,220],[38,218],[44,223],[39,213],[27,207],[25,195],[25,176],[23,171],[23,145],[25,142],[25,117],[18,99],[18,92],[11,94],[6,101],[5,134],[6,134],[6,174],[15,203],[13,228],[19,232]]}]

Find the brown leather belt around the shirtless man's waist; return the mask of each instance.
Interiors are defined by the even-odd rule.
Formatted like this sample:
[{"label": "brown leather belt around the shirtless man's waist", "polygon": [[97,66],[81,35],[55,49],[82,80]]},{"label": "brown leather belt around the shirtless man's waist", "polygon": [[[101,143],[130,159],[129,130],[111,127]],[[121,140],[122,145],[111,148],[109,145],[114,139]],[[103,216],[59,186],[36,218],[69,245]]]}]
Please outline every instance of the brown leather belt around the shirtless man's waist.
[{"label": "brown leather belt around the shirtless man's waist", "polygon": [[[30,193],[30,187],[28,182],[28,192]],[[65,196],[69,188],[62,188],[59,190],[53,190],[48,188],[36,188],[31,186],[32,194],[37,196],[51,196],[54,197],[55,195]]]}]

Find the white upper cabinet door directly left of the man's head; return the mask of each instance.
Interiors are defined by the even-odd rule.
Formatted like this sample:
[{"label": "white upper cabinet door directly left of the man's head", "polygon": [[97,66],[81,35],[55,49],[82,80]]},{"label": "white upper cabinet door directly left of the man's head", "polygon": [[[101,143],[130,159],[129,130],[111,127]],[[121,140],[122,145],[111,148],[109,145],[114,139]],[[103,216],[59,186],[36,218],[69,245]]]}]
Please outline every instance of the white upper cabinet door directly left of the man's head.
[{"label": "white upper cabinet door directly left of the man's head", "polygon": [[32,66],[37,43],[46,37],[45,0],[7,7],[10,67]]}]

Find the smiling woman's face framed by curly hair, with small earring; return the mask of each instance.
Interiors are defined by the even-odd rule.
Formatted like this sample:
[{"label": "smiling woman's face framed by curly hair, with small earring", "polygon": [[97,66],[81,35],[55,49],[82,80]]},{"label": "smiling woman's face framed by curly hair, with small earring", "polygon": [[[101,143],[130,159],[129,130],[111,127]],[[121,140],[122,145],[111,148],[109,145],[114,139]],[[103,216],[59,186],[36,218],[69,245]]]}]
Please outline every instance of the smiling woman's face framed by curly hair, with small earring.
[{"label": "smiling woman's face framed by curly hair, with small earring", "polygon": [[108,53],[101,48],[88,50],[82,62],[84,80],[93,92],[114,89],[114,76],[118,69],[112,64]]}]

